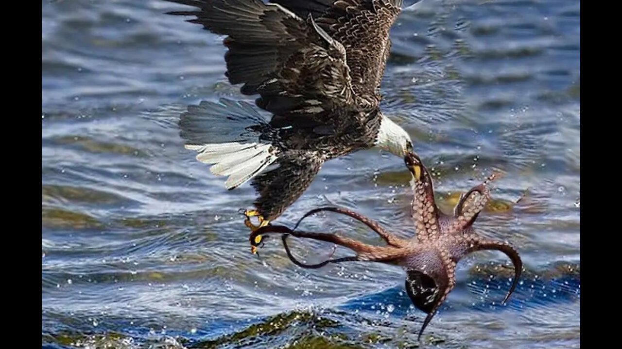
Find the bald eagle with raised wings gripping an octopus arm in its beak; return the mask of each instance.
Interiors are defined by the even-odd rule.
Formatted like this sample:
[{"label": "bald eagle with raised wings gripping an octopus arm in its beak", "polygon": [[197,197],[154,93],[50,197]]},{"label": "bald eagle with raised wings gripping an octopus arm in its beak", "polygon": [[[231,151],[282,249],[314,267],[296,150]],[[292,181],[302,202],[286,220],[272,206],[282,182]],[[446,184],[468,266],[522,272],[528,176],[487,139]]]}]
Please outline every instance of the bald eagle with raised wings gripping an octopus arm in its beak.
[{"label": "bald eagle with raised wings gripping an octopus arm in its beak", "polygon": [[[380,110],[402,0],[168,0],[194,7],[169,14],[226,35],[226,73],[255,104],[221,99],[180,117],[185,148],[227,189],[252,179],[259,194],[245,224],[256,230],[293,204],[322,164],[379,147],[404,158],[406,130]],[[258,225],[251,223],[256,217]],[[251,251],[261,235],[251,241]]]}]

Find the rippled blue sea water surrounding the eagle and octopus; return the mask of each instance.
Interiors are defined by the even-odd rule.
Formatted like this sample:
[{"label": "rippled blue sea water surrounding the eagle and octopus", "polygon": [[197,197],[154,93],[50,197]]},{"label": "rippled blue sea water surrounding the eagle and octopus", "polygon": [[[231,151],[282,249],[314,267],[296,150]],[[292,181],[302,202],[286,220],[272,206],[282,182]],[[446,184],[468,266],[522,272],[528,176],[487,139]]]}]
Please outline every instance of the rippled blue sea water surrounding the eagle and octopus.
[{"label": "rippled blue sea water surrounding the eagle and octopus", "polygon": [[[221,39],[164,15],[174,9],[42,1],[42,347],[417,345],[425,314],[401,269],[301,270],[276,241],[249,254],[238,209],[253,190],[226,191],[176,126],[188,104],[249,98],[223,76]],[[580,2],[424,0],[391,35],[383,110],[434,169],[446,209],[504,171],[476,229],[514,243],[526,266],[499,306],[505,257],[463,260],[420,345],[580,347]],[[378,150],[329,161],[279,222],[332,203],[409,236],[409,176]],[[327,217],[305,229],[378,241]],[[310,259],[325,248],[295,244]]]}]

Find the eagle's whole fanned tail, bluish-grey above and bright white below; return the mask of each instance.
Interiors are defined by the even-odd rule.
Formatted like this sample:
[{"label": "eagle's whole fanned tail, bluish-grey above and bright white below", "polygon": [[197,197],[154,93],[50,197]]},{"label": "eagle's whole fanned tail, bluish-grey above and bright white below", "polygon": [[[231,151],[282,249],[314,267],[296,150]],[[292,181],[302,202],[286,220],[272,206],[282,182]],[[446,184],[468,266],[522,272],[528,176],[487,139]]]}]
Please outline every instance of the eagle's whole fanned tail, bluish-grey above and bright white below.
[{"label": "eagle's whole fanned tail, bluish-grey above and bright white below", "polygon": [[248,102],[203,101],[189,106],[179,125],[185,147],[198,152],[197,160],[212,164],[211,173],[229,177],[227,189],[261,173],[278,157],[269,141],[272,127]]}]

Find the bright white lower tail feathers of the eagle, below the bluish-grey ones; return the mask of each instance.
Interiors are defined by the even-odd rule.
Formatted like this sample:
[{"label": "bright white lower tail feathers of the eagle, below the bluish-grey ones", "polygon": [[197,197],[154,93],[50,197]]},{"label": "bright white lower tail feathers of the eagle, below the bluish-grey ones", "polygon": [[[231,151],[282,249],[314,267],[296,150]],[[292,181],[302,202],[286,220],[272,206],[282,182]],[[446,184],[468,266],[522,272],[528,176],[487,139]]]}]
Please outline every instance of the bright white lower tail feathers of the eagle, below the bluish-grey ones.
[{"label": "bright white lower tail feathers of the eagle, below the bluish-grey ones", "polygon": [[257,142],[186,145],[186,149],[196,150],[198,161],[214,164],[211,173],[229,176],[225,182],[227,189],[244,184],[277,159],[271,144]]}]

